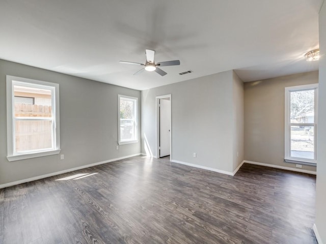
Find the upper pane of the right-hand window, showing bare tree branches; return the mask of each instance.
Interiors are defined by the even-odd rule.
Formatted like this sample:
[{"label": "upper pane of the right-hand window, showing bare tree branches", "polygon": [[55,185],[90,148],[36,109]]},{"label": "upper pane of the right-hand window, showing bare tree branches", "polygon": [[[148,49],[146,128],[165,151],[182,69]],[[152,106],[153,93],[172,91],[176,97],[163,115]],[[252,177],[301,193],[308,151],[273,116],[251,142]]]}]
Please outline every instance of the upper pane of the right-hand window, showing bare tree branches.
[{"label": "upper pane of the right-hand window, showing bare tree branches", "polygon": [[290,123],[314,123],[315,90],[290,92]]}]

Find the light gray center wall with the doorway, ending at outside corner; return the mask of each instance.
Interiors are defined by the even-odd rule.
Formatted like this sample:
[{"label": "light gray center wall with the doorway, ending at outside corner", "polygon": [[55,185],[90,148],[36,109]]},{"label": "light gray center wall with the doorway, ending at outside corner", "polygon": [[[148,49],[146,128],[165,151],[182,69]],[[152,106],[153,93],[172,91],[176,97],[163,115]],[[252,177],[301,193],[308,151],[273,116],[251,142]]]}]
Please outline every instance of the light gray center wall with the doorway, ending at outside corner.
[{"label": "light gray center wall with the doorway, ending at outside corner", "polygon": [[233,106],[233,89],[241,87],[233,76],[227,71],[142,91],[142,153],[146,146],[157,156],[155,97],[172,94],[172,160],[233,172],[233,113],[241,107]]}]

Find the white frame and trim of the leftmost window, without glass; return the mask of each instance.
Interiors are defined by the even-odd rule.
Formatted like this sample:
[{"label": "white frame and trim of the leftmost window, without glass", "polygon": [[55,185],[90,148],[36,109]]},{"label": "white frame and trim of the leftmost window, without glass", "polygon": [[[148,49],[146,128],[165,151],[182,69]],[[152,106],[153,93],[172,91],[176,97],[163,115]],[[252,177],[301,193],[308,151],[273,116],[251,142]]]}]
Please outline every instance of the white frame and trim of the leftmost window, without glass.
[{"label": "white frame and trim of the leftmost window, without glass", "polygon": [[[31,159],[49,155],[56,155],[60,153],[60,117],[59,117],[59,84],[51,83],[46,81],[22,78],[7,75],[7,159],[8,161],[17,161],[17,160],[24,160],[24,159]],[[53,117],[55,117],[54,121],[54,130],[55,133],[53,135],[55,145],[53,145],[54,149],[50,150],[38,150],[38,151],[28,151],[26,153],[15,153],[15,140],[14,140],[14,128],[13,128],[13,114],[14,114],[14,89],[13,85],[18,84],[19,82],[22,85],[28,86],[29,84],[33,86],[42,85],[47,86],[47,88],[51,89],[55,96],[52,99],[52,113]]]}]

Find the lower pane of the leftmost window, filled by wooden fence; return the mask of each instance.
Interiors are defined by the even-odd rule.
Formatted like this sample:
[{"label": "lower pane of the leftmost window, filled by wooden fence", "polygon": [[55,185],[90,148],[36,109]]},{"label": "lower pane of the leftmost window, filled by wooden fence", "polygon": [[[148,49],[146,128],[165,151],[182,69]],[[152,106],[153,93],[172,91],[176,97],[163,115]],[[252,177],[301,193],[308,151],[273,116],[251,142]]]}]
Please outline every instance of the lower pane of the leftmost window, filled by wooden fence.
[{"label": "lower pane of the leftmost window, filled by wooden fence", "polygon": [[16,152],[53,147],[51,120],[16,120]]}]

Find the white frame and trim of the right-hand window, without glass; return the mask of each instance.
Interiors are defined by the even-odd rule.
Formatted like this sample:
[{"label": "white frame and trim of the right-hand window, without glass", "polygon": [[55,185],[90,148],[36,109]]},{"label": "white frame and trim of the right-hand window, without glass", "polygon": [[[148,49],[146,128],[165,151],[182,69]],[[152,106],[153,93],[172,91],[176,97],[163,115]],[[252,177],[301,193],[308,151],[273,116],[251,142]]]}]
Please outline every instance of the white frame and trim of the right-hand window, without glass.
[{"label": "white frame and trim of the right-hand window, without glass", "polygon": [[[310,90],[315,89],[315,109],[314,109],[314,123],[307,123],[303,124],[304,126],[314,126],[315,134],[314,134],[314,159],[302,159],[302,158],[293,158],[290,156],[290,92],[293,90]],[[318,121],[318,84],[309,84],[309,85],[298,85],[298,86],[290,86],[285,87],[285,113],[284,113],[284,161],[288,163],[301,163],[301,164],[307,164],[307,165],[316,165],[317,164],[317,144],[316,144],[316,138],[317,138],[317,121]],[[296,124],[301,126],[301,124]]]}]

